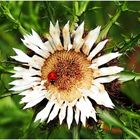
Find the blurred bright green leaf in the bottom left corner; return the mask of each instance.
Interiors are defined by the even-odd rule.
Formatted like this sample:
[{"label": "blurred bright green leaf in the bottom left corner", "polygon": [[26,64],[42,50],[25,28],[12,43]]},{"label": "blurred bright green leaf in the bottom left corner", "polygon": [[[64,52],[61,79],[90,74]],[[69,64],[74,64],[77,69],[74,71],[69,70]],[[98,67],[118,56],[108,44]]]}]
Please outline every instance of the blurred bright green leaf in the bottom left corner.
[{"label": "blurred bright green leaf in the bottom left corner", "polygon": [[28,123],[32,112],[19,109],[10,98],[0,100],[0,139],[19,139]]}]

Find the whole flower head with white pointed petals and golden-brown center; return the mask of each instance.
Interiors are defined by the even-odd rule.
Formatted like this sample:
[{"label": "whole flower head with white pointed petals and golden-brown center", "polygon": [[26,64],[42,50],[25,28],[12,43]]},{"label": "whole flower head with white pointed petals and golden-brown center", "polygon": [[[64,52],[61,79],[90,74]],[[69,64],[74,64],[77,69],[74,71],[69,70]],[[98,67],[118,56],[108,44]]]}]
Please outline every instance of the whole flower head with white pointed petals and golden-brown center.
[{"label": "whole flower head with white pointed petals and golden-brown center", "polygon": [[[69,22],[62,31],[58,22],[55,26],[50,23],[49,32],[46,42],[34,30],[32,34],[24,36],[22,42],[35,53],[31,57],[14,48],[17,55],[12,58],[21,62],[22,66],[14,67],[12,77],[16,80],[10,83],[14,85],[11,90],[24,96],[21,99],[21,103],[26,104],[24,109],[32,108],[46,99],[46,106],[37,114],[35,121],[50,122],[58,116],[60,124],[65,119],[68,128],[74,120],[77,124],[81,121],[84,126],[89,117],[97,121],[92,100],[113,108],[104,83],[118,79],[117,73],[123,70],[122,67],[105,67],[104,64],[121,54],[114,52],[97,57],[108,41],[101,41],[93,48],[99,36],[99,26],[84,38],[84,22],[73,33],[69,31]],[[51,71],[56,71],[53,72],[53,75],[56,74],[53,82],[50,81],[51,77],[46,78]]]}]

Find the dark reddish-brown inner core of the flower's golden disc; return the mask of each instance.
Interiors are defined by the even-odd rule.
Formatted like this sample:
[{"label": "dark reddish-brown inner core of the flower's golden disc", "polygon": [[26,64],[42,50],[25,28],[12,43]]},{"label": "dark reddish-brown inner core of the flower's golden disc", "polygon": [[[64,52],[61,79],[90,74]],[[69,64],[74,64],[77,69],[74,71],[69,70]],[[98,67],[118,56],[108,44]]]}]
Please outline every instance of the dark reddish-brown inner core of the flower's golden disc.
[{"label": "dark reddish-brown inner core of the flower's golden disc", "polygon": [[75,60],[58,60],[55,70],[58,76],[56,86],[59,90],[70,90],[73,82],[82,78],[80,66]]}]

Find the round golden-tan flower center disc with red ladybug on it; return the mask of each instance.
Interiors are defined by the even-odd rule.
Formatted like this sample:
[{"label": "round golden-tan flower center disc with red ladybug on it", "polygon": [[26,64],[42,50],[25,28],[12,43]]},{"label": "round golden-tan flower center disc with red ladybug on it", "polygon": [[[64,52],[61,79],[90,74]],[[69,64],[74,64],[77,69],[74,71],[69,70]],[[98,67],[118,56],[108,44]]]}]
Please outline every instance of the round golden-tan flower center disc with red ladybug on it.
[{"label": "round golden-tan flower center disc with red ladybug on it", "polygon": [[78,89],[89,89],[93,71],[91,62],[82,53],[57,51],[46,59],[41,69],[41,78],[50,93],[60,100],[73,101],[82,95]]}]

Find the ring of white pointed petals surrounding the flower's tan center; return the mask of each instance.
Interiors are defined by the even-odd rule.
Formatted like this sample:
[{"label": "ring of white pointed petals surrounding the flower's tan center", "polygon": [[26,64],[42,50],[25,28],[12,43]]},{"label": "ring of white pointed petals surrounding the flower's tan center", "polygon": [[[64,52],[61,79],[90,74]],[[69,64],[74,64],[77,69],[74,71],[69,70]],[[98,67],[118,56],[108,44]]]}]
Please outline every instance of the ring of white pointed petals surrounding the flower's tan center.
[{"label": "ring of white pointed petals surrounding the flower's tan center", "polygon": [[[24,96],[20,102],[26,104],[24,109],[31,108],[44,99],[47,100],[46,106],[37,114],[35,121],[47,121],[48,123],[58,116],[60,124],[65,119],[68,128],[71,127],[74,119],[77,124],[82,122],[85,126],[86,119],[89,117],[96,121],[96,111],[91,100],[105,107],[114,107],[103,84],[118,79],[119,76],[115,74],[121,72],[123,68],[118,66],[101,66],[119,57],[121,54],[114,52],[96,57],[108,41],[108,39],[101,41],[95,48],[92,48],[99,36],[100,29],[101,27],[98,26],[83,38],[84,22],[71,34],[68,21],[62,29],[63,42],[61,42],[61,30],[58,21],[56,25],[50,22],[50,34],[46,35],[48,41],[43,42],[34,30],[32,30],[32,34],[25,35],[24,39],[21,39],[25,46],[35,53],[33,56],[28,56],[20,49],[14,48],[17,55],[11,57],[23,65],[22,67],[14,67],[15,73],[11,77],[18,79],[9,83],[14,85],[11,90],[19,91],[20,95]],[[73,41],[71,38],[73,38]],[[84,55],[84,57],[86,56],[86,61],[90,62],[88,69],[93,71],[91,77],[86,77],[87,79],[92,79],[90,88],[76,87],[76,91],[73,94],[77,96],[75,99],[72,98],[72,101],[67,100],[65,95],[61,98],[60,96],[62,95],[60,94],[62,93],[59,94],[57,91],[52,94],[51,90],[48,90],[44,85],[46,80],[41,78],[42,66],[50,56],[55,56],[55,53],[59,51],[67,51],[67,53],[74,51],[77,54]],[[65,57],[66,53],[63,55]],[[77,57],[78,55],[74,54],[73,56]],[[77,61],[80,62],[79,58]],[[49,65],[47,67],[49,68]],[[85,67],[85,65],[82,65],[82,67]]]}]

